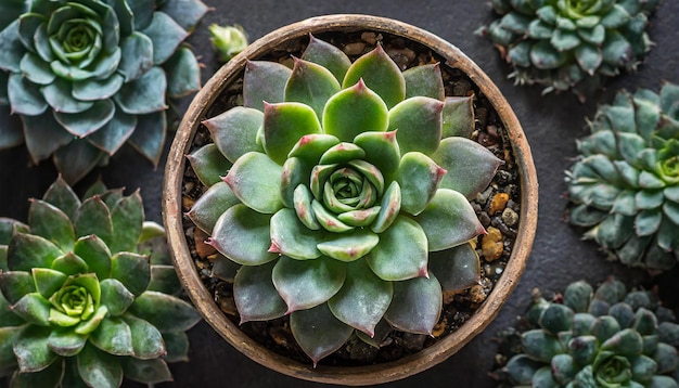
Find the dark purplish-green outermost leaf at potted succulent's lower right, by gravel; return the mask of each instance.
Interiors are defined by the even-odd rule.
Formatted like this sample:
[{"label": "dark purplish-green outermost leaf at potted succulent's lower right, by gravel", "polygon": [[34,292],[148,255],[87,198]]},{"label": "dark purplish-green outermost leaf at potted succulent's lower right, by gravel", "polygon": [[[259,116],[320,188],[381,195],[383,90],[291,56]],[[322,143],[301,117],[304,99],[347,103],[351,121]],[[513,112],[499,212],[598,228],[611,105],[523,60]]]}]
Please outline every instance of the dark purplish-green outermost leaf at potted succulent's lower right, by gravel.
[{"label": "dark purplish-green outermost leaf at potted succulent's lower right, by gravel", "polygon": [[444,292],[465,289],[481,280],[478,254],[469,243],[431,253],[427,267]]}]

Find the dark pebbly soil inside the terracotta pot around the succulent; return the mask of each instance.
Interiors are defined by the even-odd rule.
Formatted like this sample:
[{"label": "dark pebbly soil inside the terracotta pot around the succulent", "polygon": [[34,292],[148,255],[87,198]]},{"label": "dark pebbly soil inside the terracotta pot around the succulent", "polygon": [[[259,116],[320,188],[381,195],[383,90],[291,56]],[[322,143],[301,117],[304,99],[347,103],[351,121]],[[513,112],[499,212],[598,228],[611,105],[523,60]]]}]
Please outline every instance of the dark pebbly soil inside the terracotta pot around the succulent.
[{"label": "dark pebbly soil inside the terracotta pot around the succulent", "polygon": [[[514,164],[507,131],[486,96],[479,92],[469,77],[456,68],[444,65],[445,61],[428,48],[401,37],[373,31],[326,33],[318,34],[317,37],[340,47],[353,61],[374,49],[375,44],[381,42],[401,69],[428,63],[441,63],[440,69],[446,95],[474,95],[475,130],[471,139],[486,146],[497,157],[504,160],[488,189],[472,202],[478,219],[489,232],[486,236],[476,238],[482,263],[481,281],[467,290],[444,294],[444,308],[439,322],[434,328],[434,336],[385,331],[380,338],[382,339],[380,348],[372,347],[353,336],[342,349],[321,360],[320,364],[348,366],[394,361],[430,347],[456,331],[474,314],[494,289],[510,258],[521,222],[518,219],[521,214],[521,184],[517,166]],[[308,37],[293,40],[285,47],[256,60],[277,61],[292,67],[291,55],[300,56],[307,43]],[[217,98],[206,117],[216,116],[226,109],[241,105],[242,85],[241,74]],[[190,152],[210,142],[209,132],[204,126],[201,126]],[[188,211],[206,190],[207,187],[197,180],[191,166],[187,164],[182,193],[183,210]],[[213,269],[216,263],[229,266],[230,261],[220,257],[212,247],[203,244],[207,236],[196,229],[187,217],[184,217],[183,227],[191,255],[205,286],[225,314],[238,324],[240,318],[235,311],[230,279],[213,276]],[[300,363],[310,363],[310,360],[296,345],[286,316],[267,322],[248,322],[241,325],[241,328],[251,338],[277,353]]]}]

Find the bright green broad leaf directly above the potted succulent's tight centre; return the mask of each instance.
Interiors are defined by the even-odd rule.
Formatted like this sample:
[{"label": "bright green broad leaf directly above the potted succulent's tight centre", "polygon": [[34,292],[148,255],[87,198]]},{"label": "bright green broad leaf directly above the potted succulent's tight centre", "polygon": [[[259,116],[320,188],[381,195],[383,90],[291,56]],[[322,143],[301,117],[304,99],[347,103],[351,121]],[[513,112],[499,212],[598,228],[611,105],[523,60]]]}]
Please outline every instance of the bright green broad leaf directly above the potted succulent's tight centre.
[{"label": "bright green broad leaf directly above the potted succulent's tight centre", "polygon": [[323,129],[340,141],[350,142],[360,133],[384,132],[387,128],[387,105],[361,80],[336,93],[325,104]]}]

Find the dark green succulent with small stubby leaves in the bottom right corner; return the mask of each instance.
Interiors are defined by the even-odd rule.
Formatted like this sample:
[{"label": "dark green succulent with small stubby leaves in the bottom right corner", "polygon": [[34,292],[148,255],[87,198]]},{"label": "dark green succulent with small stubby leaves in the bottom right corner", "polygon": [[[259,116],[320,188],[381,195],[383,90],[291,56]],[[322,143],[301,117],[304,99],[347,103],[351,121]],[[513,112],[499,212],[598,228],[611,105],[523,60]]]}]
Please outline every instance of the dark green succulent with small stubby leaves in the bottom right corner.
[{"label": "dark green succulent with small stubby leaves in the bottom right corner", "polygon": [[679,325],[649,292],[575,282],[559,302],[538,293],[525,318],[533,328],[503,370],[514,386],[679,386]]}]

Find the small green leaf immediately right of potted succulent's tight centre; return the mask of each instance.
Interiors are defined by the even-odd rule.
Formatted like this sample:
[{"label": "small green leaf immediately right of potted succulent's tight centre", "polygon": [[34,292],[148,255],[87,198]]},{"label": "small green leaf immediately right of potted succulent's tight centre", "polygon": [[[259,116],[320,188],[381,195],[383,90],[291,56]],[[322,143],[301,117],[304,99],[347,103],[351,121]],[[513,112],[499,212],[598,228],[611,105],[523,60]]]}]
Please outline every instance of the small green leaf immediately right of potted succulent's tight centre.
[{"label": "small green leaf immediately right of potted succulent's tight centre", "polygon": [[401,209],[413,216],[422,212],[445,173],[446,170],[422,153],[403,155],[394,178],[401,189]]}]

